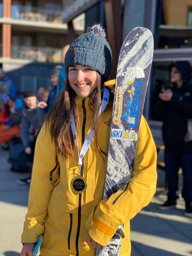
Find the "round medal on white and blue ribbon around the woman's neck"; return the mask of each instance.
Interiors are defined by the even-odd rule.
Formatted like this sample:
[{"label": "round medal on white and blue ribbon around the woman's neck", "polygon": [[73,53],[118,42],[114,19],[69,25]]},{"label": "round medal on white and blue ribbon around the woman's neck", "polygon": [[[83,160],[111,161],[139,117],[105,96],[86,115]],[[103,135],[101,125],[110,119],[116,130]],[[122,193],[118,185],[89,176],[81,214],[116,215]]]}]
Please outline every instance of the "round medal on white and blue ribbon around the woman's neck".
[{"label": "round medal on white and blue ribbon around the woman's neck", "polygon": [[[105,88],[104,92],[103,92],[103,99],[102,99],[99,115],[101,115],[102,112],[104,111],[105,107],[107,106],[108,101],[109,101],[109,90]],[[79,154],[77,133],[76,133],[75,119],[74,119],[73,111],[71,111],[71,113],[70,113],[70,123],[71,123],[71,130],[72,130],[73,137],[74,137],[74,142],[75,142],[75,145],[77,146],[78,167],[79,167],[79,175],[71,180],[70,187],[74,191],[74,193],[81,194],[85,191],[85,189],[87,187],[87,182],[86,182],[85,178],[82,177],[83,174],[81,175],[81,166],[83,164],[83,162],[82,162],[83,157],[85,156],[87,150],[89,149],[89,147],[91,145],[91,141],[92,141],[93,135],[94,135],[94,129],[92,128],[90,133],[87,135],[87,138],[85,139],[82,149],[81,149],[81,152]]]}]

